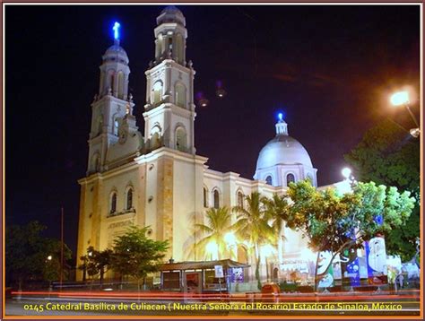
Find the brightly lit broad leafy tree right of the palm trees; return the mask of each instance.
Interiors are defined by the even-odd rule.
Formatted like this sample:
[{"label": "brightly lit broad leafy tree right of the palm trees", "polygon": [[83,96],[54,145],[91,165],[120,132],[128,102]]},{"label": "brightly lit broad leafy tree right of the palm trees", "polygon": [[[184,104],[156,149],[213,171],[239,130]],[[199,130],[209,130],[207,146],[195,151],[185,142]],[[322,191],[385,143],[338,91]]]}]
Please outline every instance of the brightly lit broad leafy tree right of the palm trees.
[{"label": "brightly lit broad leafy tree right of the palm trees", "polygon": [[364,240],[378,232],[399,229],[414,206],[410,192],[400,194],[396,187],[358,183],[352,193],[338,195],[335,189],[318,191],[308,180],[291,183],[288,195],[293,202],[288,224],[308,237],[308,246],[317,252],[315,290],[319,253],[331,251],[334,257],[344,248],[362,247]]}]

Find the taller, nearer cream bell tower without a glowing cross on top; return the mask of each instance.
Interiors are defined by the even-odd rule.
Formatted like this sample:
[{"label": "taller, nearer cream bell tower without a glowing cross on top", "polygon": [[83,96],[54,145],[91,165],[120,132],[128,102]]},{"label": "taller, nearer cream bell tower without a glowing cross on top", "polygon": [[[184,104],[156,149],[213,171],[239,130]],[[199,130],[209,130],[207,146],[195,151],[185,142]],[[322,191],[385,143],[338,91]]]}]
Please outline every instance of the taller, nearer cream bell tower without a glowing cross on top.
[{"label": "taller, nearer cream bell tower without a glowing cross on top", "polygon": [[148,151],[162,146],[195,154],[192,62],[186,62],[186,19],[174,5],[157,18],[155,58],[146,74],[144,140]]}]

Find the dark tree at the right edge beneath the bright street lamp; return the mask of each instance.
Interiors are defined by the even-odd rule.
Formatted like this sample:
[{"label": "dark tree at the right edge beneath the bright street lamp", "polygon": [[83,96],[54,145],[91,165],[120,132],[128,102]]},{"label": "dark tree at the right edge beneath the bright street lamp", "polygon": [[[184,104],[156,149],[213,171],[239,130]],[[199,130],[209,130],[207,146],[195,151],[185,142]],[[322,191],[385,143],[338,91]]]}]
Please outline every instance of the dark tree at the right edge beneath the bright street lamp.
[{"label": "dark tree at the right edge beneath the bright street lamp", "polygon": [[360,181],[394,186],[411,191],[415,208],[406,224],[389,231],[386,238],[388,253],[398,254],[407,261],[416,253],[415,240],[420,235],[420,142],[386,119],[369,129],[361,142],[344,155]]}]

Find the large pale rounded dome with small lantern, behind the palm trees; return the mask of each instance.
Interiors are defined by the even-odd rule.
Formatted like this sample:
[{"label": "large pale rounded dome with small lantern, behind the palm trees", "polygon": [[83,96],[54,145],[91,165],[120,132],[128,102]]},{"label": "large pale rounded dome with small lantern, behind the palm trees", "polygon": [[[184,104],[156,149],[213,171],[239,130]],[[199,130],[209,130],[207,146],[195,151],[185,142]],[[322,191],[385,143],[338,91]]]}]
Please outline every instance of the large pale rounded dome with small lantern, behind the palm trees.
[{"label": "large pale rounded dome with small lantern, behind the palm trees", "polygon": [[313,167],[307,150],[296,139],[287,134],[286,123],[276,124],[276,136],[265,144],[256,160],[256,170],[275,165],[301,164]]}]

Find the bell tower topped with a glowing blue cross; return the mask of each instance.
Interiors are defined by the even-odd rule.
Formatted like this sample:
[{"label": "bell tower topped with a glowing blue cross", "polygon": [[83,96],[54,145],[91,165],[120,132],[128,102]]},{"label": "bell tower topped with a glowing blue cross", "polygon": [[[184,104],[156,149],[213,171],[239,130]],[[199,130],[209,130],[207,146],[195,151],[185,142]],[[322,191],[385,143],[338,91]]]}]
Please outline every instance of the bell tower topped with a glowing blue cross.
[{"label": "bell tower topped with a glowing blue cross", "polygon": [[102,56],[99,93],[91,103],[87,175],[106,169],[109,146],[117,143],[126,119],[133,116],[134,103],[131,94],[128,95],[129,60],[126,50],[119,45],[119,27],[115,22],[112,28],[114,45]]}]

